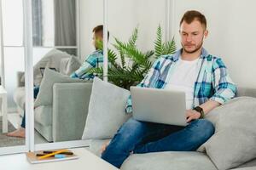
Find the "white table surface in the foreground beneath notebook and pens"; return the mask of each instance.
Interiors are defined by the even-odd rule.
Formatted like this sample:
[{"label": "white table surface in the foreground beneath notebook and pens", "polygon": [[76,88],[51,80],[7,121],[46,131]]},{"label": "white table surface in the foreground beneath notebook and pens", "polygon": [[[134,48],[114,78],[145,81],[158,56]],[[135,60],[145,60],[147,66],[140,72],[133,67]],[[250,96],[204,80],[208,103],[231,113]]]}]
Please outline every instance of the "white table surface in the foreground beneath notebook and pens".
[{"label": "white table surface in the foreground beneath notebook and pens", "polygon": [[79,159],[67,161],[54,161],[38,164],[31,164],[26,159],[26,154],[14,154],[0,156],[0,168],[3,170],[117,170],[107,161],[93,155],[85,148],[71,149],[79,156]]}]

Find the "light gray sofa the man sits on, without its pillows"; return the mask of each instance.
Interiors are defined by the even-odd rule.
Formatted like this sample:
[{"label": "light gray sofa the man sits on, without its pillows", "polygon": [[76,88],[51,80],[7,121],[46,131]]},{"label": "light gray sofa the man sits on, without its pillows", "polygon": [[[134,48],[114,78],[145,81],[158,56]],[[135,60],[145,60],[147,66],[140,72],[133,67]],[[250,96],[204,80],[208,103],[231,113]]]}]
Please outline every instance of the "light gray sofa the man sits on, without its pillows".
[{"label": "light gray sofa the man sits on, without its pillows", "polygon": [[[251,96],[256,98],[256,89],[253,88],[238,88],[237,97]],[[90,142],[89,150],[100,156],[102,144],[108,140],[94,139]],[[202,152],[197,151],[166,151],[148,154],[133,154],[129,156],[123,163],[123,170],[218,170],[211,159]],[[256,157],[253,161],[248,161],[239,167],[237,170],[255,170]]]}]

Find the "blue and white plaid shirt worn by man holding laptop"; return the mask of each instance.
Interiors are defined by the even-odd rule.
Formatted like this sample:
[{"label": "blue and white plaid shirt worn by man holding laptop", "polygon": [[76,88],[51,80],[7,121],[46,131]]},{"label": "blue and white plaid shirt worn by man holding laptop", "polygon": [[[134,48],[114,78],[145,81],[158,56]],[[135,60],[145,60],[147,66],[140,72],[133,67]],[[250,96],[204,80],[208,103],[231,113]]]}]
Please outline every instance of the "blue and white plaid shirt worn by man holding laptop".
[{"label": "blue and white plaid shirt worn by man holding laptop", "polygon": [[[182,49],[173,55],[163,55],[154,62],[146,77],[137,86],[142,88],[165,88],[176,68]],[[236,85],[230,79],[222,59],[207,53],[202,48],[201,69],[195,82],[193,107],[207,102],[208,99],[220,104],[235,97]],[[132,112],[131,96],[125,106],[126,113]]]}]

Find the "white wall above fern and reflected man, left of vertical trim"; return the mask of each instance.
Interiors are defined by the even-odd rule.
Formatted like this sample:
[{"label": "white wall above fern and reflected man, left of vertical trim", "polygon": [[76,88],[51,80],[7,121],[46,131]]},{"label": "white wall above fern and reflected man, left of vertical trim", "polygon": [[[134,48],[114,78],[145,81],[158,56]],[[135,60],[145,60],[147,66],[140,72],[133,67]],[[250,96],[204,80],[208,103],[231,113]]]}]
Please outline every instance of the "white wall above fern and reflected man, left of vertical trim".
[{"label": "white wall above fern and reflected man, left of vertical trim", "polygon": [[[84,59],[94,48],[92,29],[103,23],[103,1],[81,1],[81,56]],[[165,28],[166,0],[110,0],[108,1],[109,45],[113,37],[127,41],[136,26],[139,27],[137,46],[143,51],[154,47],[156,28]],[[165,37],[165,35],[163,35]]]}]

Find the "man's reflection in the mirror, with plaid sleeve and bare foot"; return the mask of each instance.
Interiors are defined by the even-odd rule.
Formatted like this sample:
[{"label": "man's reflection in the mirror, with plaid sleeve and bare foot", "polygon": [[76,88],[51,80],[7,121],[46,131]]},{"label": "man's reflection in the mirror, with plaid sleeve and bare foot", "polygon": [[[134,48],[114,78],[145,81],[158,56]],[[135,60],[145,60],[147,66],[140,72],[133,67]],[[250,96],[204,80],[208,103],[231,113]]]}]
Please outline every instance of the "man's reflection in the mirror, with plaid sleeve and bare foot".
[{"label": "man's reflection in the mirror, with plaid sleeve and bare foot", "polygon": [[[90,80],[94,77],[93,74],[88,73],[91,68],[101,67],[103,65],[103,51],[97,47],[97,42],[103,41],[103,26],[96,26],[93,30],[93,45],[96,48],[96,51],[90,54],[85,60],[84,63],[79,67],[77,71],[74,71],[70,77],[80,78]],[[108,32],[109,38],[109,32]],[[39,87],[34,88],[34,99],[37,98],[39,92]],[[24,114],[25,115],[25,114]],[[25,138],[25,116],[23,116],[20,128],[14,132],[8,133],[8,136]]]}]

